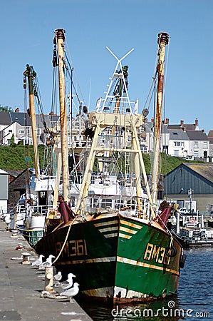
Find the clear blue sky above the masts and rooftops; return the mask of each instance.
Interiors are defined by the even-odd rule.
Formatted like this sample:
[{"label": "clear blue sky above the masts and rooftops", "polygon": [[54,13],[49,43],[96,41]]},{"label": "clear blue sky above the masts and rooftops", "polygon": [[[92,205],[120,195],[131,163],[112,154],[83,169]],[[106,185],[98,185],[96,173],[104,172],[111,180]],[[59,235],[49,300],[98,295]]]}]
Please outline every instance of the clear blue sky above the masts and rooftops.
[{"label": "clear blue sky above the masts and rooftops", "polygon": [[[212,0],[7,0],[1,3],[0,105],[24,111],[23,72],[33,66],[43,110],[51,111],[53,31],[66,30],[80,90],[90,111],[104,95],[115,58],[134,48],[129,94],[140,112],[150,90],[157,34],[170,34],[165,88],[170,123],[194,123],[213,129]],[[152,114],[149,115],[149,120]]]}]

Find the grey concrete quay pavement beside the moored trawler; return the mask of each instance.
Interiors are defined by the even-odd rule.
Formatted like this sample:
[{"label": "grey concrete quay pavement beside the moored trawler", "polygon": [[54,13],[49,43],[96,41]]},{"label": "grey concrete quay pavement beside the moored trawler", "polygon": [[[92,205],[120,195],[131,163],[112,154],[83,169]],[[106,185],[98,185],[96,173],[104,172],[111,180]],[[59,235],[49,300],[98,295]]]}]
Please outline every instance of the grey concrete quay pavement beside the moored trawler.
[{"label": "grey concrete quay pavement beside the moored trawler", "polygon": [[[23,250],[16,250],[19,243]],[[31,264],[23,264],[22,253],[29,253],[29,261],[37,259],[33,248],[21,233],[6,229],[0,220],[0,320],[23,321],[90,321],[76,300],[47,298],[45,272]]]}]

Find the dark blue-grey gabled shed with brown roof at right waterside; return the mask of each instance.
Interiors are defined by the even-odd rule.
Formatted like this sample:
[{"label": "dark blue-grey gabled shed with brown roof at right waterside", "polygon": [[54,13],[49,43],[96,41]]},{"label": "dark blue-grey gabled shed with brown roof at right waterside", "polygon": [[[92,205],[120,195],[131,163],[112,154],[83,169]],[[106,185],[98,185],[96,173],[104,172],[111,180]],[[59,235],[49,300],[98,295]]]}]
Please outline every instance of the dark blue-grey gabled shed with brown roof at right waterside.
[{"label": "dark blue-grey gabled shed with brown roof at right waterside", "polygon": [[197,200],[199,211],[213,210],[213,164],[182,163],[165,175],[164,193],[168,200]]}]

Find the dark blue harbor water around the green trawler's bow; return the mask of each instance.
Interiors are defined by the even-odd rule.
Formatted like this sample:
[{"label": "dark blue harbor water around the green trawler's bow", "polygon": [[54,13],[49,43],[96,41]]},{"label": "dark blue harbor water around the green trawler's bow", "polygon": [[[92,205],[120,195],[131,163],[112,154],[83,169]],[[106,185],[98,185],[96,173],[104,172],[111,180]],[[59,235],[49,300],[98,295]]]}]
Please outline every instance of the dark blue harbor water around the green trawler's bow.
[{"label": "dark blue harbor water around the green trawler's bow", "polygon": [[213,320],[213,249],[185,250],[187,260],[181,269],[176,297],[140,305],[128,305],[123,310],[106,306],[83,306],[95,321],[133,320]]}]

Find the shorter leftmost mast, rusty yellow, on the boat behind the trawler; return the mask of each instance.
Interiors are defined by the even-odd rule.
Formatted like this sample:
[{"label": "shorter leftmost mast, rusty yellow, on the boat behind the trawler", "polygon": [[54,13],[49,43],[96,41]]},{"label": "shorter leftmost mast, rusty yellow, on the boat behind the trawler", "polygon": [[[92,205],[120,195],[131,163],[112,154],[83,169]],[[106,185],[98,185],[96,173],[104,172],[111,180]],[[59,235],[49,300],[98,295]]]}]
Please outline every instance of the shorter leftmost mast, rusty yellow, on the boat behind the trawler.
[{"label": "shorter leftmost mast, rusty yellow, on the boat behind the trawler", "polygon": [[36,178],[39,178],[40,165],[39,165],[39,157],[38,157],[36,111],[35,111],[35,101],[34,101],[34,91],[33,91],[33,78],[36,77],[36,72],[33,70],[32,66],[26,65],[26,71],[24,71],[24,76],[28,78],[29,107],[30,107],[32,136],[33,136],[34,163],[35,163]]}]

